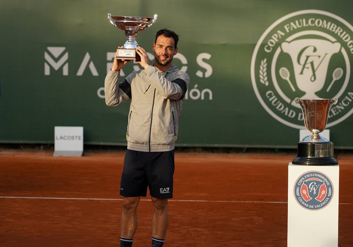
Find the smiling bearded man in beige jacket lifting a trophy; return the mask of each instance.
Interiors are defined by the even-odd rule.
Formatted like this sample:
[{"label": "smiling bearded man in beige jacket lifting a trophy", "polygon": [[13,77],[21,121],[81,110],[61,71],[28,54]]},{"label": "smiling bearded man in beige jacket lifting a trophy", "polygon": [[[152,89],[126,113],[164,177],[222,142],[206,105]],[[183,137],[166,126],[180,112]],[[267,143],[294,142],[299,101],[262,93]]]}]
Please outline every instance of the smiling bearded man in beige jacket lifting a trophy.
[{"label": "smiling bearded man in beige jacket lifting a trophy", "polygon": [[[133,71],[118,84],[120,70],[129,60],[114,59],[104,81],[107,106],[131,99],[127,123],[127,151],[121,175],[120,195],[124,197],[120,219],[120,246],[132,246],[137,229],[137,206],[149,187],[154,214],[152,247],[163,246],[168,227],[168,199],[173,197],[174,144],[178,119],[189,76],[172,64],[178,53],[179,37],[162,29],[153,44],[155,60],[150,65],[142,47],[136,52],[144,69]],[[122,47],[118,47],[122,48]],[[116,56],[118,53],[116,53]]]}]

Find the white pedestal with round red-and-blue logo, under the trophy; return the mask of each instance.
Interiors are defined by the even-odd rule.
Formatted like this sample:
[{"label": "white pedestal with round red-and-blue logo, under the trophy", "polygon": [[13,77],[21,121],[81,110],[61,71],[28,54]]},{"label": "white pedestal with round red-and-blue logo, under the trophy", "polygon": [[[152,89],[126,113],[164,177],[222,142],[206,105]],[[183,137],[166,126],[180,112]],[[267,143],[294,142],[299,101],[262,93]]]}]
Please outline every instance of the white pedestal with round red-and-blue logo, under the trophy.
[{"label": "white pedestal with round red-and-blue logo, under the trophy", "polygon": [[338,203],[339,165],[289,163],[287,246],[338,246]]}]

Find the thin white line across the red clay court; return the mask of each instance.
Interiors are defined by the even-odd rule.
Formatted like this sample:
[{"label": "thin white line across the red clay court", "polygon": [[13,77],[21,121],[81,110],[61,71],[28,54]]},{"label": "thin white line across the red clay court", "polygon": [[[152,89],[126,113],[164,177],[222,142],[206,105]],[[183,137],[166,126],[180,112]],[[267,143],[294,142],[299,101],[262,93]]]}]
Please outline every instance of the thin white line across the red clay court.
[{"label": "thin white line across the red clay court", "polygon": [[[0,197],[0,198],[122,201],[122,199],[114,199],[114,198],[70,198],[70,197]],[[141,199],[140,201],[150,201],[150,199]],[[216,200],[173,200],[173,199],[169,199],[168,201],[202,202],[202,203],[287,203],[287,201],[216,201]],[[352,204],[352,203],[339,203],[339,204]]]}]

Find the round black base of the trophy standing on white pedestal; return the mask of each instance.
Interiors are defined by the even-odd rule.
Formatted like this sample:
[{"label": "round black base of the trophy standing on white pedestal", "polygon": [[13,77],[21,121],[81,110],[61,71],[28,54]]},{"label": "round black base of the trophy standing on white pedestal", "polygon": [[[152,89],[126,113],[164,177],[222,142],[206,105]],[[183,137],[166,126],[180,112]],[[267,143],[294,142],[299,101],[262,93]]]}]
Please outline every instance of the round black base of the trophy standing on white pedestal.
[{"label": "round black base of the trophy standing on white pedestal", "polygon": [[298,157],[293,159],[295,165],[338,165],[333,157],[333,143],[305,141],[298,142]]}]

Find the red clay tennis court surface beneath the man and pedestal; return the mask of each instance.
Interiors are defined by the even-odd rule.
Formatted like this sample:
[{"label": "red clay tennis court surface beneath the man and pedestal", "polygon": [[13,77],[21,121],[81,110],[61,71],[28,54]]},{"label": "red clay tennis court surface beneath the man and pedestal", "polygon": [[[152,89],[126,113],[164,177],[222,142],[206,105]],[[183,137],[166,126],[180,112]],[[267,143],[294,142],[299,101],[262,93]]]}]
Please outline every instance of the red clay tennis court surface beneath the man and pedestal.
[{"label": "red clay tennis court surface beneath the man and pedestal", "polygon": [[[0,151],[0,246],[119,246],[124,154]],[[288,163],[294,158],[175,153],[164,246],[287,246]],[[352,247],[353,156],[336,158],[339,246]],[[142,198],[134,247],[151,245],[151,217],[150,199]]]}]

